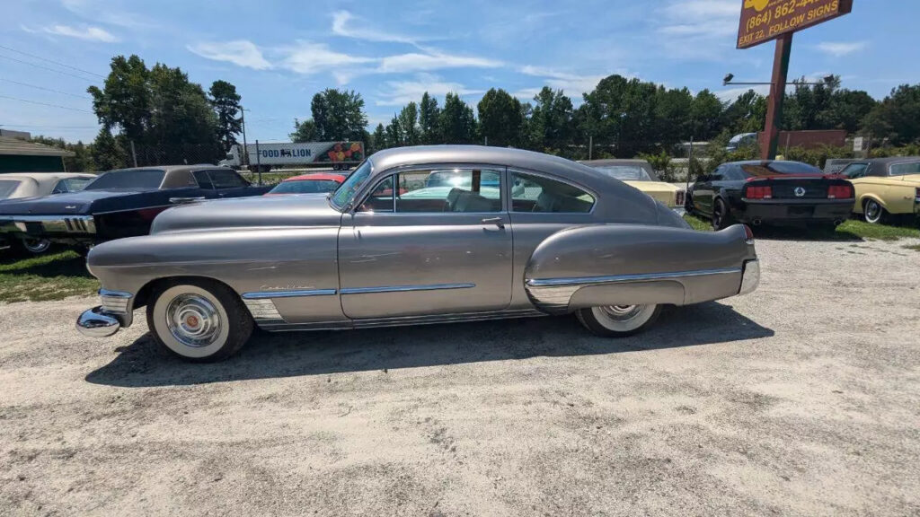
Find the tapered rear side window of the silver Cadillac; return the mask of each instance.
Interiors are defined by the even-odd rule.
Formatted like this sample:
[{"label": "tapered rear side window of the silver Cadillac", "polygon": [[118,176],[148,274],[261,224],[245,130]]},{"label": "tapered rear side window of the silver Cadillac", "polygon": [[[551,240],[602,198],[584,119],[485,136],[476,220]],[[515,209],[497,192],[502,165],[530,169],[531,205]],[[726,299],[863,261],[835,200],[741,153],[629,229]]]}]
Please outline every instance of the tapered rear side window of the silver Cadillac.
[{"label": "tapered rear side window of the silver Cadillac", "polygon": [[594,201],[591,194],[569,183],[512,173],[512,212],[588,213]]}]

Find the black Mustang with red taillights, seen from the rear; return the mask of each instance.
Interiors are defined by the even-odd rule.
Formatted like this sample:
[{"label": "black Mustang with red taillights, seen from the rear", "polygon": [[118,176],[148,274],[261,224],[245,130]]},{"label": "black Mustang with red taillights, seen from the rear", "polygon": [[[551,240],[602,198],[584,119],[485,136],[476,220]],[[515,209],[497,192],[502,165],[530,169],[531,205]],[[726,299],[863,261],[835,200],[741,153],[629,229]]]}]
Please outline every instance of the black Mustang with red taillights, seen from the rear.
[{"label": "black Mustang with red taillights, seen from the rear", "polygon": [[853,185],[800,162],[749,161],[720,165],[696,179],[688,213],[710,218],[718,230],[732,222],[808,224],[833,228],[853,210]]}]

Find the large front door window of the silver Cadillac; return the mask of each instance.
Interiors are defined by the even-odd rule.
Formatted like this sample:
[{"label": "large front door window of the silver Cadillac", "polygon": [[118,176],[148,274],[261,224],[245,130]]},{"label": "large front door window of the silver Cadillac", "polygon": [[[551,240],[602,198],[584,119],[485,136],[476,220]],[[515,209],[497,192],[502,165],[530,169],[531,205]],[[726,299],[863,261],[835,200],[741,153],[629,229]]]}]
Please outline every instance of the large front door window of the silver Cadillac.
[{"label": "large front door window of the silver Cadillac", "polygon": [[501,212],[501,173],[479,168],[397,174],[397,213]]}]

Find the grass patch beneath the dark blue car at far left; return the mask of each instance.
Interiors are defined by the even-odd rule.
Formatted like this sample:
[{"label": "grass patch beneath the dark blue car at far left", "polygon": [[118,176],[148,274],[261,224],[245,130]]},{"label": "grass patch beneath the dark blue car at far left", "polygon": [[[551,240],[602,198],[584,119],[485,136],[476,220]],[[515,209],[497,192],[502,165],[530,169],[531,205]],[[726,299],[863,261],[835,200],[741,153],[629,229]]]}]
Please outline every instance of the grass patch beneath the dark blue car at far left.
[{"label": "grass patch beneath the dark blue car at far left", "polygon": [[99,282],[86,270],[86,259],[59,251],[20,259],[0,252],[0,302],[44,302],[96,293]]}]

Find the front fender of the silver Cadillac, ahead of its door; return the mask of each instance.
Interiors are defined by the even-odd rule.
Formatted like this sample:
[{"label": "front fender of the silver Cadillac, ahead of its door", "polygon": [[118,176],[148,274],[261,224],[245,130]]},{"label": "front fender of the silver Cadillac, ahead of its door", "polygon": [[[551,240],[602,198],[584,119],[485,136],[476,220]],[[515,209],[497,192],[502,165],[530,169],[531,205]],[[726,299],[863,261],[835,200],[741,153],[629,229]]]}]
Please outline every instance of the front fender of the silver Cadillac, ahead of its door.
[{"label": "front fender of the silver Cadillac, ahead of its door", "polygon": [[[271,293],[339,288],[335,227],[237,228],[131,237],[94,247],[86,267],[107,291],[131,294],[128,313],[137,295],[152,281],[198,277],[221,281],[236,293]],[[328,298],[336,298],[329,296]],[[313,307],[335,317],[338,300]],[[276,302],[282,315],[304,304]]]}]

